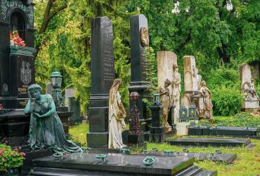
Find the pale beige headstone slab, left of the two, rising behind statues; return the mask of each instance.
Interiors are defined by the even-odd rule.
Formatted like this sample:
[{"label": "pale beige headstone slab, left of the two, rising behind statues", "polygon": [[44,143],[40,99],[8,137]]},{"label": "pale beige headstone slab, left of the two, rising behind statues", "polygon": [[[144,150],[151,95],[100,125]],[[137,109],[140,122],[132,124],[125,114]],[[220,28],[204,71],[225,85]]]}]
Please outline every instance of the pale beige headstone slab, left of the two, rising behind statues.
[{"label": "pale beige headstone slab, left of the two, rising behind statues", "polygon": [[[177,55],[172,51],[158,51],[157,52],[157,75],[158,87],[164,86],[165,80],[172,80],[173,69],[172,65],[177,64]],[[169,86],[170,91],[171,86]]]}]

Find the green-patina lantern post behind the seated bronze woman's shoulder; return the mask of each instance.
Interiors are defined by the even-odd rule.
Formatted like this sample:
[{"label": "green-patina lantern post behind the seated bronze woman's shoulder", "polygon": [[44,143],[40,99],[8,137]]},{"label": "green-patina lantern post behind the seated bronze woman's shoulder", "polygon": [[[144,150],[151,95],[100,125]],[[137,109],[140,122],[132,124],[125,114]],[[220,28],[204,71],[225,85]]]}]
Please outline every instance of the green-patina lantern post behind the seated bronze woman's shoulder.
[{"label": "green-patina lantern post behind the seated bronze woman's shoulder", "polygon": [[51,86],[53,87],[52,96],[56,107],[59,107],[63,103],[63,96],[61,94],[61,82],[63,76],[59,72],[55,71],[51,73]]}]

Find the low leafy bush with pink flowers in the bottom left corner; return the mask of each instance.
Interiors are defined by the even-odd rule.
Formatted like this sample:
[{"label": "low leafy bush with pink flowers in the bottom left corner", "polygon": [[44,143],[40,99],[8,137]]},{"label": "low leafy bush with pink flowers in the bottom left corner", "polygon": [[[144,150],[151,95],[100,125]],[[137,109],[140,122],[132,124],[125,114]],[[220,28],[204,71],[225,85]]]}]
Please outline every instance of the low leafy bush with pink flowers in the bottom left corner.
[{"label": "low leafy bush with pink flowers in the bottom left corner", "polygon": [[19,149],[13,151],[11,146],[0,144],[0,172],[8,168],[18,168],[22,166],[23,156],[25,153],[19,153]]}]

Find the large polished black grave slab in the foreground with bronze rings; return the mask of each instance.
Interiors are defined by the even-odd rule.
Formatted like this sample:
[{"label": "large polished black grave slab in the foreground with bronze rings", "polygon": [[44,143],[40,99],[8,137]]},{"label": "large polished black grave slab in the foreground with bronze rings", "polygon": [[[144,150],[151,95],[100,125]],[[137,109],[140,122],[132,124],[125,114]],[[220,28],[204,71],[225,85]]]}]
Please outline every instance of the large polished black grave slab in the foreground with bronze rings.
[{"label": "large polished black grave slab in the foreground with bronze rings", "polygon": [[98,170],[104,172],[132,173],[143,175],[174,175],[190,167],[195,162],[193,157],[155,157],[152,166],[145,166],[146,156],[122,155],[109,153],[105,161],[97,159],[93,153],[72,153],[63,158],[46,157],[34,160],[36,167],[64,168],[71,170]]}]

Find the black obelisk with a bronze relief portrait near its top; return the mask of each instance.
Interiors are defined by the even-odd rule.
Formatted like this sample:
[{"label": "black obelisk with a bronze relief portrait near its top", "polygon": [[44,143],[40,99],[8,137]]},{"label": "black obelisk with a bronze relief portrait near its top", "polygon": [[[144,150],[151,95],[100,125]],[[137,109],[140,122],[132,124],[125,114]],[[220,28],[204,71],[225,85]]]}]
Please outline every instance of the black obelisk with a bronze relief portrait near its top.
[{"label": "black obelisk with a bronze relief portrait near its top", "polygon": [[[129,92],[138,92],[138,109],[141,113],[141,129],[148,131],[150,117],[146,103],[142,99],[150,99],[149,96],[149,36],[148,20],[145,15],[132,15],[130,17],[130,45],[131,45],[131,82]],[[130,109],[134,106],[130,101]]]}]

